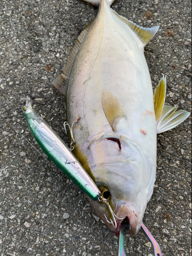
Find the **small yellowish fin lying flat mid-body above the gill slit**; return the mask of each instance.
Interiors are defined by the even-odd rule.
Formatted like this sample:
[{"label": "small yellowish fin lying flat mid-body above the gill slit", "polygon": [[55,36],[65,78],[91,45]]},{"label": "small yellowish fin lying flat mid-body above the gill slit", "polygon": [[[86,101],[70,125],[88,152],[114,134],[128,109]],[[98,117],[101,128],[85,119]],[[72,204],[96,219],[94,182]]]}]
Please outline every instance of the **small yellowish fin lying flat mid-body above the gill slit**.
[{"label": "small yellowish fin lying flat mid-body above the gill slit", "polygon": [[103,90],[101,94],[102,108],[106,119],[115,131],[118,120],[126,117],[119,101],[109,90]]}]

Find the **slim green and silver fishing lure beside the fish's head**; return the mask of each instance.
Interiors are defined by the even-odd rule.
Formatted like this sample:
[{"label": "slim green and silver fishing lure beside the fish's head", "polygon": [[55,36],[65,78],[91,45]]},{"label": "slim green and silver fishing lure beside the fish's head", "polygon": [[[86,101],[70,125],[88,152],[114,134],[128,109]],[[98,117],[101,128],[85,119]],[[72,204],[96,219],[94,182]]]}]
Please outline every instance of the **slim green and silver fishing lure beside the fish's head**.
[{"label": "slim green and silver fishing lure beside the fish's head", "polygon": [[69,147],[59,138],[44,119],[32,109],[32,100],[28,96],[23,113],[35,140],[46,155],[84,193],[94,201],[97,200],[101,196],[100,190],[70,151]]}]

